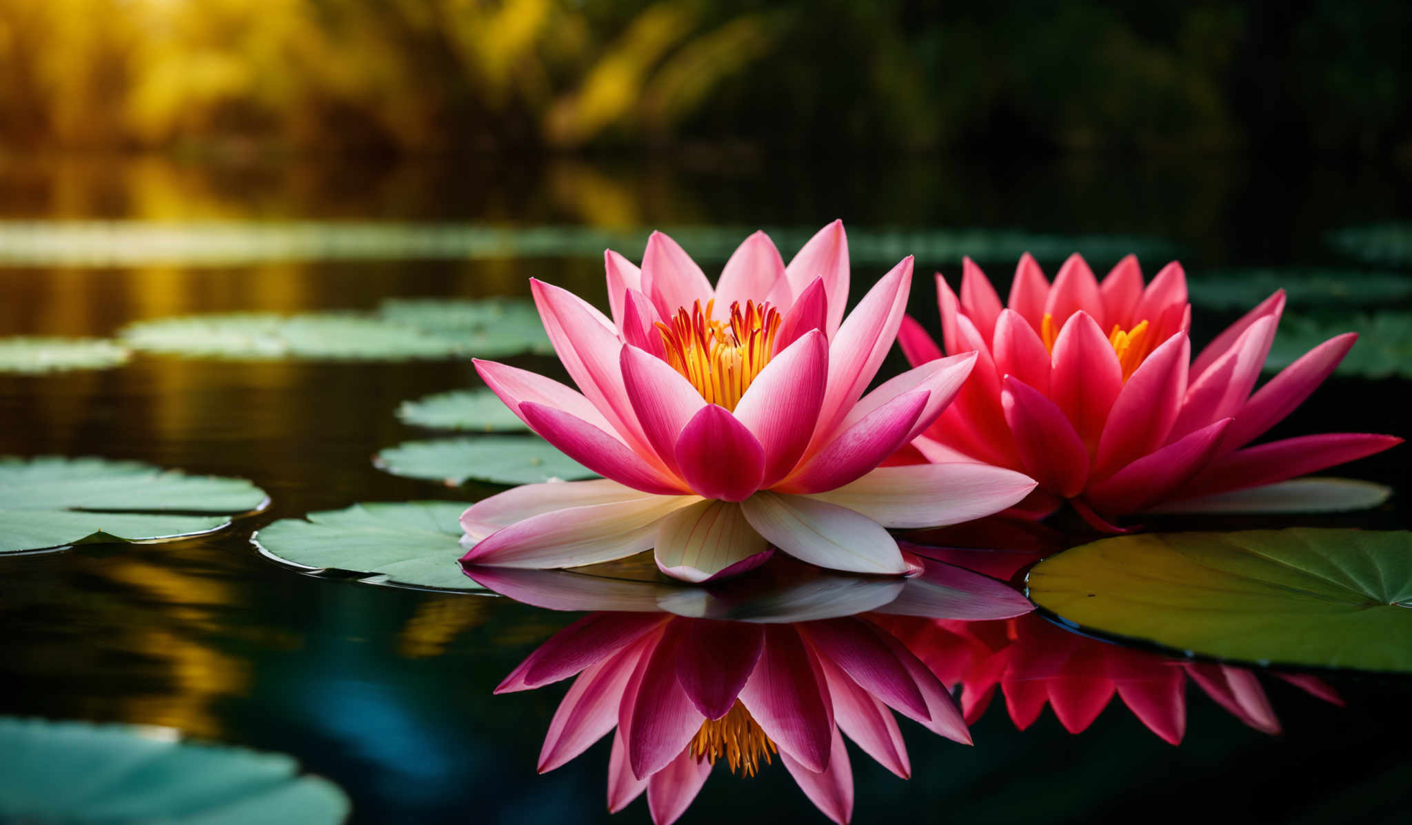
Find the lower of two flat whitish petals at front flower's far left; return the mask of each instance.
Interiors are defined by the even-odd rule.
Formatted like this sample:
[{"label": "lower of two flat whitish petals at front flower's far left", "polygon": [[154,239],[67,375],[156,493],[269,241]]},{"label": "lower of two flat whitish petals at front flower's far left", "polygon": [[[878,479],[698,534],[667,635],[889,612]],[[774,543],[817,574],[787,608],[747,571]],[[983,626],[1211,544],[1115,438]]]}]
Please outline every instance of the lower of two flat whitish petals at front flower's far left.
[{"label": "lower of two flat whitish petals at front flower's far left", "polygon": [[644,496],[531,516],[480,540],[460,561],[463,565],[562,568],[624,558],[652,547],[658,523],[695,500],[690,496]]}]

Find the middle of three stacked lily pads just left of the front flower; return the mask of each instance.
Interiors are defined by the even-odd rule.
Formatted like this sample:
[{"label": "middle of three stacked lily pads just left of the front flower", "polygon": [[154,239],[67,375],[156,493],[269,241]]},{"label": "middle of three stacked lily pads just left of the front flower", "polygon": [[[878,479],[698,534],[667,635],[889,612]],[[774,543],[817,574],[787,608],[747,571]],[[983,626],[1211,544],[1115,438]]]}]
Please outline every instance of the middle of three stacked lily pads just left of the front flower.
[{"label": "middle of three stacked lily pads just left of the front flower", "polygon": [[373,463],[394,476],[453,486],[469,480],[532,485],[597,477],[549,442],[524,435],[408,441],[377,453]]}]

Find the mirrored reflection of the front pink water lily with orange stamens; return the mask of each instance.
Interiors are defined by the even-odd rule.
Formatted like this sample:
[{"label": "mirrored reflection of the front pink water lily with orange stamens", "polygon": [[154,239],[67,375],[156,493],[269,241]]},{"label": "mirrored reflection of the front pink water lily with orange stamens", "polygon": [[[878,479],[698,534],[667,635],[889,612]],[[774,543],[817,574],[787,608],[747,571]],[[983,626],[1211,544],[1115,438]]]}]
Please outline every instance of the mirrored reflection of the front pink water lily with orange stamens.
[{"label": "mirrored reflection of the front pink water lily with orange stamens", "polygon": [[549,723],[539,771],[616,729],[609,809],[645,790],[657,825],[682,815],[717,763],[754,776],[777,757],[820,811],[847,822],[853,771],[840,730],[894,774],[911,774],[888,708],[971,742],[940,681],[861,617],[751,624],[592,613],[535,650],[496,692],[575,674]]}]

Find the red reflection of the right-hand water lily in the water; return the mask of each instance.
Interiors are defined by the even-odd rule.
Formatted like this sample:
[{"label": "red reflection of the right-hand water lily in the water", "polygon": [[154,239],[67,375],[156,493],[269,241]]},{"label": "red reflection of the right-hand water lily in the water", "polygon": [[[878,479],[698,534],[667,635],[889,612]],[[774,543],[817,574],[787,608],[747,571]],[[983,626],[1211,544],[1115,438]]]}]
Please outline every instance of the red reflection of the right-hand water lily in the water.
[{"label": "red reflection of the right-hand water lily in the water", "polygon": [[[1265,733],[1279,733],[1269,698],[1248,668],[1162,657],[1062,630],[1029,615],[1004,622],[890,619],[887,627],[916,651],[942,682],[962,685],[967,723],[986,712],[998,688],[1015,726],[1029,728],[1053,708],[1070,733],[1089,728],[1117,695],[1152,733],[1179,744],[1186,732],[1186,681]],[[1274,674],[1341,705],[1310,675]]]}]

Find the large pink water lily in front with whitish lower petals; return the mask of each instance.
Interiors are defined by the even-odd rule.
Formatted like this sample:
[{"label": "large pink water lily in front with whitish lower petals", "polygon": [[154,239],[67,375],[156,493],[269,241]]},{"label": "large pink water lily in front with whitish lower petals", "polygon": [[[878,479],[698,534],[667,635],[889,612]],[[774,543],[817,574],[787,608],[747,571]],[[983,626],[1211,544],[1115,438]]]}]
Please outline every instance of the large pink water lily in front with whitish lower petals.
[{"label": "large pink water lily in front with whitish lower petals", "polygon": [[713,288],[661,233],[638,270],[606,256],[607,318],[532,281],[559,360],[582,393],[476,362],[535,432],[604,480],[530,485],[466,510],[466,562],[575,566],[655,550],[705,581],[770,545],[825,568],[901,575],[887,527],[933,527],[1010,507],[1034,487],[983,465],[878,465],[942,414],[973,353],[922,363],[864,396],[894,340],[912,259],[842,321],[847,239],[834,222],[786,267],[750,236]]}]

